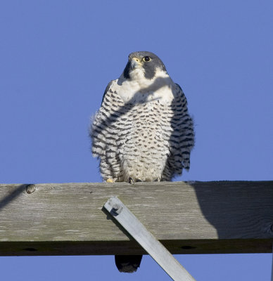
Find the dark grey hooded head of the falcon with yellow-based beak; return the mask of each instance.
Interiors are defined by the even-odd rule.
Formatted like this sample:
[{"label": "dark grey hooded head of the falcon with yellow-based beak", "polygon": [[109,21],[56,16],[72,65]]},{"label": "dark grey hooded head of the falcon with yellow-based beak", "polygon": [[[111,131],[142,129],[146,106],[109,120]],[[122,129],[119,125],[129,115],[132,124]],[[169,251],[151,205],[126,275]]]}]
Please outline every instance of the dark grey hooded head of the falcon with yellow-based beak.
[{"label": "dark grey hooded head of the falcon with yellow-based beak", "polygon": [[139,77],[144,77],[151,80],[158,71],[167,74],[162,60],[154,53],[139,51],[129,54],[123,76],[125,79],[139,79]]}]

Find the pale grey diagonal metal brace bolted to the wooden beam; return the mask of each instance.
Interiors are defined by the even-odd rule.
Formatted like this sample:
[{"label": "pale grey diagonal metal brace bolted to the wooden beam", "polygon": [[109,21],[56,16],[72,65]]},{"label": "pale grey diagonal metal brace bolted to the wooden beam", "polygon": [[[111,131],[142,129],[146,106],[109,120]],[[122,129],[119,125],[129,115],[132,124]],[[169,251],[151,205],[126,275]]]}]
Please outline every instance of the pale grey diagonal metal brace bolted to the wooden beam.
[{"label": "pale grey diagonal metal brace bolted to the wooden beam", "polygon": [[110,197],[104,204],[106,210],[127,232],[134,237],[141,247],[165,270],[174,281],[194,281],[195,279],[176,260],[163,244],[145,228],[118,197]]}]

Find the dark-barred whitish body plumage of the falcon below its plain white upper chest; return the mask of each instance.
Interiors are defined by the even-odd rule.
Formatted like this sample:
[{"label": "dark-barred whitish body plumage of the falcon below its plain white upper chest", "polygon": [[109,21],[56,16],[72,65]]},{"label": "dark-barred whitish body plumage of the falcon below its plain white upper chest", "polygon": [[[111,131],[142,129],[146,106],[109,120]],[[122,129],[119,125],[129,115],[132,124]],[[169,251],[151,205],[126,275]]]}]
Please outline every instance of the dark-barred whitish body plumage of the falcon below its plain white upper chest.
[{"label": "dark-barred whitish body plumage of the falcon below its plain white upper chest", "polygon": [[103,181],[171,181],[189,169],[193,121],[179,85],[173,84],[168,103],[163,98],[125,102],[117,83],[108,84],[90,130]]}]

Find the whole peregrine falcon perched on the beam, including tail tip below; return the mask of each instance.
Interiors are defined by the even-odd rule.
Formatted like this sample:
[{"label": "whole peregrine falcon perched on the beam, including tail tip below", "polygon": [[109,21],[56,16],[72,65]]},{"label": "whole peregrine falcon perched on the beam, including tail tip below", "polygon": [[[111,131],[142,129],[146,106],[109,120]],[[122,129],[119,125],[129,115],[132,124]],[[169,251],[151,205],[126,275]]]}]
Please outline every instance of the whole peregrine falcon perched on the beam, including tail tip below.
[{"label": "whole peregrine falcon perched on the beam, including tail tip below", "polygon": [[[106,87],[90,136],[103,181],[172,181],[189,170],[193,120],[181,87],[157,55],[129,55],[120,78]],[[115,261],[121,272],[134,272],[141,256]]]}]

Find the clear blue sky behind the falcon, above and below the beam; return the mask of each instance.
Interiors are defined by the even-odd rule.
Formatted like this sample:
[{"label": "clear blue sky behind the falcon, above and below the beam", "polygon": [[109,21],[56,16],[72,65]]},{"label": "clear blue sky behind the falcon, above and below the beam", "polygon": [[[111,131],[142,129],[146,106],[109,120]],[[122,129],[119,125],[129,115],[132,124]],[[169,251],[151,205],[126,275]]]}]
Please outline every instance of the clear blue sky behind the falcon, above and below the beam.
[{"label": "clear blue sky behind the falcon, above and below the beam", "polygon": [[[272,180],[273,2],[0,3],[0,182],[99,182],[89,117],[132,51],[152,51],[182,86],[196,124],[177,180]],[[270,254],[180,255],[197,280],[269,280]],[[1,257],[1,280],[170,280],[146,256]]]}]

